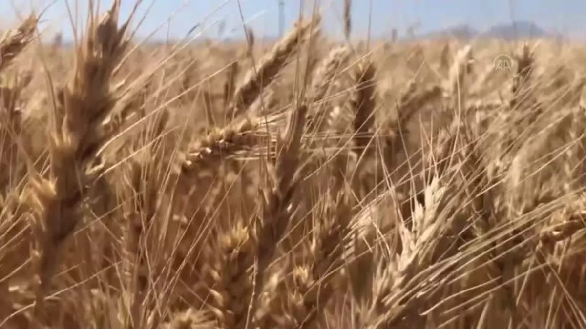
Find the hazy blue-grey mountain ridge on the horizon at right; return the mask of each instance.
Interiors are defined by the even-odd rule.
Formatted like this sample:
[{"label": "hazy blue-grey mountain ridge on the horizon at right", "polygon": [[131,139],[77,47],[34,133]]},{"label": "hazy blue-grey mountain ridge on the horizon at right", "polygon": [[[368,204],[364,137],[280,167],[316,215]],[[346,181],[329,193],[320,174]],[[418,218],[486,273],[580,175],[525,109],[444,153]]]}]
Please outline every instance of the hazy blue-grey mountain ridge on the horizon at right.
[{"label": "hazy blue-grey mountain ridge on the horizon at right", "polygon": [[471,38],[497,38],[505,40],[525,39],[525,38],[548,38],[560,37],[556,32],[549,32],[533,22],[517,21],[508,24],[492,26],[492,28],[480,32],[471,28],[469,25],[456,25],[451,28],[437,30],[424,35],[417,36],[417,39],[440,39],[443,37],[452,37],[456,39]]}]

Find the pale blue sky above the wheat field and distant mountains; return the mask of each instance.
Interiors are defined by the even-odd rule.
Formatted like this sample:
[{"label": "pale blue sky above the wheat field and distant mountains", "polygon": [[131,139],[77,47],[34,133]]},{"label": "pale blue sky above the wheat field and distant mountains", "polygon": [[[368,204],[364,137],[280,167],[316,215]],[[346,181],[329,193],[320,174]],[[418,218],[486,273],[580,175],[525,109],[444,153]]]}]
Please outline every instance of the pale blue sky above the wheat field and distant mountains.
[{"label": "pale blue sky above the wheat field and distant mountains", "polygon": [[[224,37],[243,36],[243,19],[254,29],[255,35],[277,36],[279,29],[278,2],[280,0],[143,0],[138,18],[151,7],[138,35],[155,33],[156,39],[171,36],[178,39],[194,26],[194,35],[215,37],[220,22],[224,22]],[[343,0],[283,0],[285,27],[298,18],[300,8],[310,11],[314,1],[323,8],[325,30],[335,36],[342,34]],[[97,0],[96,0],[97,2]],[[30,8],[40,11],[47,8],[45,26],[49,31],[62,30],[70,39],[71,23],[67,4],[71,10],[78,6],[77,16],[83,21],[88,0],[0,0],[0,22],[9,22],[15,11],[26,15]],[[110,0],[101,0],[105,8]],[[122,0],[123,15],[134,6],[134,0]],[[86,8],[84,10],[84,8]],[[303,10],[301,10],[303,11]],[[372,12],[372,15],[370,14]],[[545,29],[564,34],[586,36],[585,0],[353,0],[353,33],[364,37],[386,36],[396,28],[404,33],[418,23],[417,32],[425,33],[449,26],[468,24],[476,29],[488,29],[498,23],[512,20],[531,20]],[[5,28],[5,26],[0,26]]]}]

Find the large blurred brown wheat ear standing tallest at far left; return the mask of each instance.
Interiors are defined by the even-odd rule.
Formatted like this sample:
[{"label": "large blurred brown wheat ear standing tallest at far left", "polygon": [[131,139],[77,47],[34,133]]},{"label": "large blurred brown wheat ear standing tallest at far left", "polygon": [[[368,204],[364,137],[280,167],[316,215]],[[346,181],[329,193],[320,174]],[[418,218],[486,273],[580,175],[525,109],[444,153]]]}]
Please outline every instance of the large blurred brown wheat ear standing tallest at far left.
[{"label": "large blurred brown wheat ear standing tallest at far left", "polygon": [[85,168],[97,150],[97,127],[116,102],[111,77],[128,42],[119,29],[120,1],[96,23],[90,20],[84,42],[77,49],[73,76],[57,95],[56,125],[50,136],[50,176],[33,177],[33,206],[42,228],[40,286],[36,311],[43,309],[57,252],[81,220],[80,203],[93,176]]}]

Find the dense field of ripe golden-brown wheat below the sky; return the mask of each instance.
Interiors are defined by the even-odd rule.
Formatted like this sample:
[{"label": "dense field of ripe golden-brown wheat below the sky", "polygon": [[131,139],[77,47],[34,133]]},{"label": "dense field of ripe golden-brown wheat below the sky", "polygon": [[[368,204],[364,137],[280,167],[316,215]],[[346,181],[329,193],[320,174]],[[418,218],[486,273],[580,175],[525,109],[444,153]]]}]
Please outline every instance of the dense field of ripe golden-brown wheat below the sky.
[{"label": "dense field of ripe golden-brown wheat below the sky", "polygon": [[586,51],[354,44],[349,1],[344,42],[147,46],[119,6],[0,39],[0,328],[586,327]]}]

